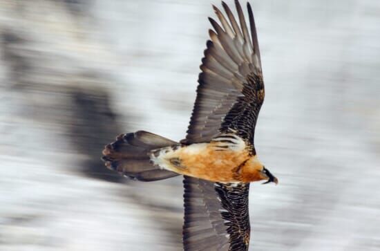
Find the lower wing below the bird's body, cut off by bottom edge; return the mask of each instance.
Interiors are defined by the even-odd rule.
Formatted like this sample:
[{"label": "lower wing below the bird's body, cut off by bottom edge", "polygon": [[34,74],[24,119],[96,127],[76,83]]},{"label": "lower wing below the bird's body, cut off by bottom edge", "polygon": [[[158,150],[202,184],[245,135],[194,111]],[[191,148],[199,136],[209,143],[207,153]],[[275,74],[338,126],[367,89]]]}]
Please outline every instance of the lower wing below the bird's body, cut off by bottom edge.
[{"label": "lower wing below the bird's body, cut off by bottom edge", "polygon": [[248,250],[249,183],[184,177],[184,250]]}]

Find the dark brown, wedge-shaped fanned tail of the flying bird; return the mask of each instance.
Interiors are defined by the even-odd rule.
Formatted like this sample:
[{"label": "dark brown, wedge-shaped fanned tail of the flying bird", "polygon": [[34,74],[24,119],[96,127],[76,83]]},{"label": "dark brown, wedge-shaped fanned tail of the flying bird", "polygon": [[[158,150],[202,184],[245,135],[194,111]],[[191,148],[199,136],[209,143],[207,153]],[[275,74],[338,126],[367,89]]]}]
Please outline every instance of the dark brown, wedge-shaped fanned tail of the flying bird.
[{"label": "dark brown, wedge-shaped fanned tail of the flying bird", "polygon": [[146,131],[126,133],[117,136],[115,142],[106,145],[102,160],[108,169],[125,176],[142,181],[162,180],[178,174],[153,165],[149,154],[155,149],[171,145],[178,143]]}]

